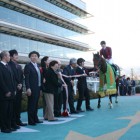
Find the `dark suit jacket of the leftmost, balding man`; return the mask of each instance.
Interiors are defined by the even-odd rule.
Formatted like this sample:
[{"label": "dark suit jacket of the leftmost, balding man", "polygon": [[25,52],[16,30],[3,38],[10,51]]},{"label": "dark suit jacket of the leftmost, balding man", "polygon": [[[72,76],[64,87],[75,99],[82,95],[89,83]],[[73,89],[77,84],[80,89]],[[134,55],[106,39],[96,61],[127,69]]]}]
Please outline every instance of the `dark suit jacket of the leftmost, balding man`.
[{"label": "dark suit jacket of the leftmost, balding man", "polygon": [[[0,100],[14,99],[15,91],[15,78],[10,66],[6,68],[6,66],[0,62]],[[6,97],[8,92],[11,92],[10,97]]]}]

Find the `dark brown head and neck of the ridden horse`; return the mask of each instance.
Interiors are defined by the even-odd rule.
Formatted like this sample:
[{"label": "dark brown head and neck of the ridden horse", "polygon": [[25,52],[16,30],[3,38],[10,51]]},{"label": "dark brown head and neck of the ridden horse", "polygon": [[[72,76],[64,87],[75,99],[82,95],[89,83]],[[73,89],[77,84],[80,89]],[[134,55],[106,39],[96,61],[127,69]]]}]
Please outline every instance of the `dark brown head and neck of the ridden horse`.
[{"label": "dark brown head and neck of the ridden horse", "polygon": [[93,63],[95,68],[99,68],[103,73],[107,70],[107,64],[104,58],[99,53],[93,54]]}]

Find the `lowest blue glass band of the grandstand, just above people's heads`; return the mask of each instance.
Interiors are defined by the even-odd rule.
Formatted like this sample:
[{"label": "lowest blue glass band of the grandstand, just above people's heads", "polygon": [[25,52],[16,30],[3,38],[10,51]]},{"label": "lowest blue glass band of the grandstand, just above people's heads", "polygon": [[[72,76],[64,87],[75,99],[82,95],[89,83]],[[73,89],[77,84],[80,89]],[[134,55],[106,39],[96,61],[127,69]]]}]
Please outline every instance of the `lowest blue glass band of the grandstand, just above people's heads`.
[{"label": "lowest blue glass band of the grandstand, just above people's heads", "polygon": [[23,54],[28,54],[29,52],[36,50],[42,56],[47,55],[64,59],[69,59],[72,56],[79,56],[81,54],[81,51],[75,49],[60,47],[7,34],[0,34],[0,50],[10,49],[16,49],[19,53]]}]

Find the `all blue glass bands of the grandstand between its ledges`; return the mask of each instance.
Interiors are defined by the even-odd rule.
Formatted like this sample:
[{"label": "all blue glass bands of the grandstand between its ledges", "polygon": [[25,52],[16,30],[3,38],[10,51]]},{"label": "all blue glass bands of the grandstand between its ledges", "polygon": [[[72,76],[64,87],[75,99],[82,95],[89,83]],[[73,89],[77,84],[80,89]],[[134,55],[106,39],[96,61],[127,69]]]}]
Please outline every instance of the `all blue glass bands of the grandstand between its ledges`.
[{"label": "all blue glass bands of the grandstand between its ledges", "polygon": [[[80,19],[80,17],[55,6],[46,0],[24,0],[25,2],[35,5],[43,10],[47,10],[51,13],[57,14],[63,18],[69,20]],[[69,0],[70,1],[70,0]],[[85,7],[85,3],[78,0],[76,5],[81,5]],[[83,37],[84,35],[43,20],[19,13],[14,10],[0,6],[0,20],[6,21],[8,23],[20,25],[29,29],[34,29],[36,31],[41,31],[44,33],[52,34],[53,36],[60,36],[61,38],[72,39],[74,41],[79,41],[80,43],[85,43]],[[36,50],[41,56],[57,57],[62,59],[70,59],[72,57],[82,57],[83,51],[66,48],[65,46],[57,46],[53,44],[48,44],[40,41],[31,40],[28,38],[22,38],[20,36],[13,36],[4,33],[0,33],[0,50],[10,50],[16,49],[21,54],[28,54],[30,51]]]}]

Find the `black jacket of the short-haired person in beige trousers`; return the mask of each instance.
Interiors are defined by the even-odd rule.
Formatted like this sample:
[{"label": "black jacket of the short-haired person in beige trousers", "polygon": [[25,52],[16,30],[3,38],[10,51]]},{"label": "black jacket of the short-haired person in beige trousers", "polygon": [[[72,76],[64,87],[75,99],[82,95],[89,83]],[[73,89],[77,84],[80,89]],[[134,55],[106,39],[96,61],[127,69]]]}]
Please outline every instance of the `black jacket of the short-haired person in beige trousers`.
[{"label": "black jacket of the short-haired person in beige trousers", "polygon": [[46,70],[45,80],[46,93],[55,94],[58,92],[58,87],[62,86],[62,84],[58,82],[58,76],[52,68]]}]

